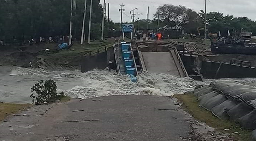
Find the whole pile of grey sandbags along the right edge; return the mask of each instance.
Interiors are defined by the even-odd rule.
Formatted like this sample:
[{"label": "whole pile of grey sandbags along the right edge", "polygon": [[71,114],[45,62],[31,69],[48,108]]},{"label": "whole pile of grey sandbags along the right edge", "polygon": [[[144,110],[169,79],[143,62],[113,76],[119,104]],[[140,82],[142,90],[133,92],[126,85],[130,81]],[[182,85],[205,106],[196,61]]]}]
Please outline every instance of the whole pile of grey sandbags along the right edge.
[{"label": "whole pile of grey sandbags along the right edge", "polygon": [[253,136],[256,137],[256,87],[233,81],[215,81],[197,86],[193,93],[200,102],[199,106],[220,119],[255,130]]}]

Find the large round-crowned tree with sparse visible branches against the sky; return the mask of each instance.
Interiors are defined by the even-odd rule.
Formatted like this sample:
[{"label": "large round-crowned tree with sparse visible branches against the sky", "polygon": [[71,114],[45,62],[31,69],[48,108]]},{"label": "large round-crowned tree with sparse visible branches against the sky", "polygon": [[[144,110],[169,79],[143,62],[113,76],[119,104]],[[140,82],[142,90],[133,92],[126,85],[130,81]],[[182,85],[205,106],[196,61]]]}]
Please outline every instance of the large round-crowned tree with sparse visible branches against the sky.
[{"label": "large round-crowned tree with sparse visible branches against the sky", "polygon": [[196,18],[197,13],[185,6],[174,6],[171,4],[165,4],[157,8],[154,18],[158,19],[158,16],[163,23],[166,23],[171,29],[181,29],[183,25],[189,23]]}]

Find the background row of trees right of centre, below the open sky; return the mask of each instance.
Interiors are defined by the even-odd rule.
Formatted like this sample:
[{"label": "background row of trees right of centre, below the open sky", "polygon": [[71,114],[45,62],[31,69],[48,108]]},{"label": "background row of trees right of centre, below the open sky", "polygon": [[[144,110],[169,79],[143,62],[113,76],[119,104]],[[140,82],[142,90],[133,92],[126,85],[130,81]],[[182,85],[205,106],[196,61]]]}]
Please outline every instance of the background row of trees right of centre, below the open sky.
[{"label": "background row of trees right of centre, below the open sky", "polygon": [[[234,17],[224,15],[220,12],[206,13],[207,29],[210,33],[221,31],[223,36],[230,32],[252,31],[256,35],[256,22],[248,17]],[[157,26],[159,22],[159,27]],[[140,29],[147,29],[147,20],[141,19],[135,22],[135,27],[139,23]],[[204,11],[196,12],[185,6],[174,6],[165,4],[157,8],[154,18],[149,21],[149,29],[159,29],[167,27],[169,30],[184,29],[186,33],[198,33],[198,27],[204,27]]]}]

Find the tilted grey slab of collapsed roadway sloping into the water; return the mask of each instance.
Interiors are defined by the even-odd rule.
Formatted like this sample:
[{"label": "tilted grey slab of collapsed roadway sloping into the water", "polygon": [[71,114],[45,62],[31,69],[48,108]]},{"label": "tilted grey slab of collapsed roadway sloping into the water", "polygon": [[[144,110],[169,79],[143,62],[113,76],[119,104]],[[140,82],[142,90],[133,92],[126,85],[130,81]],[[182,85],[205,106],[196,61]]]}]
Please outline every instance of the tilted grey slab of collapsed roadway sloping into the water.
[{"label": "tilted grey slab of collapsed roadway sloping into the water", "polygon": [[169,52],[142,53],[147,71],[171,74],[180,77],[179,71]]}]

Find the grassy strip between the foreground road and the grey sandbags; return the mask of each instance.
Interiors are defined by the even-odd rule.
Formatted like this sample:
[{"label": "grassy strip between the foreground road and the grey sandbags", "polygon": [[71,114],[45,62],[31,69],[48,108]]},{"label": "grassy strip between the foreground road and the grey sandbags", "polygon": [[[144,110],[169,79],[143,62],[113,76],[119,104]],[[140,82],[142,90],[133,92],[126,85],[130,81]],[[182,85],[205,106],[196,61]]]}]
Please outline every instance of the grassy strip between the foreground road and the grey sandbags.
[{"label": "grassy strip between the foreground road and the grey sandbags", "polygon": [[207,123],[218,131],[230,134],[234,140],[251,141],[251,130],[244,130],[234,122],[221,120],[210,111],[198,106],[198,100],[193,94],[175,95],[182,102],[182,106],[199,121]]}]

